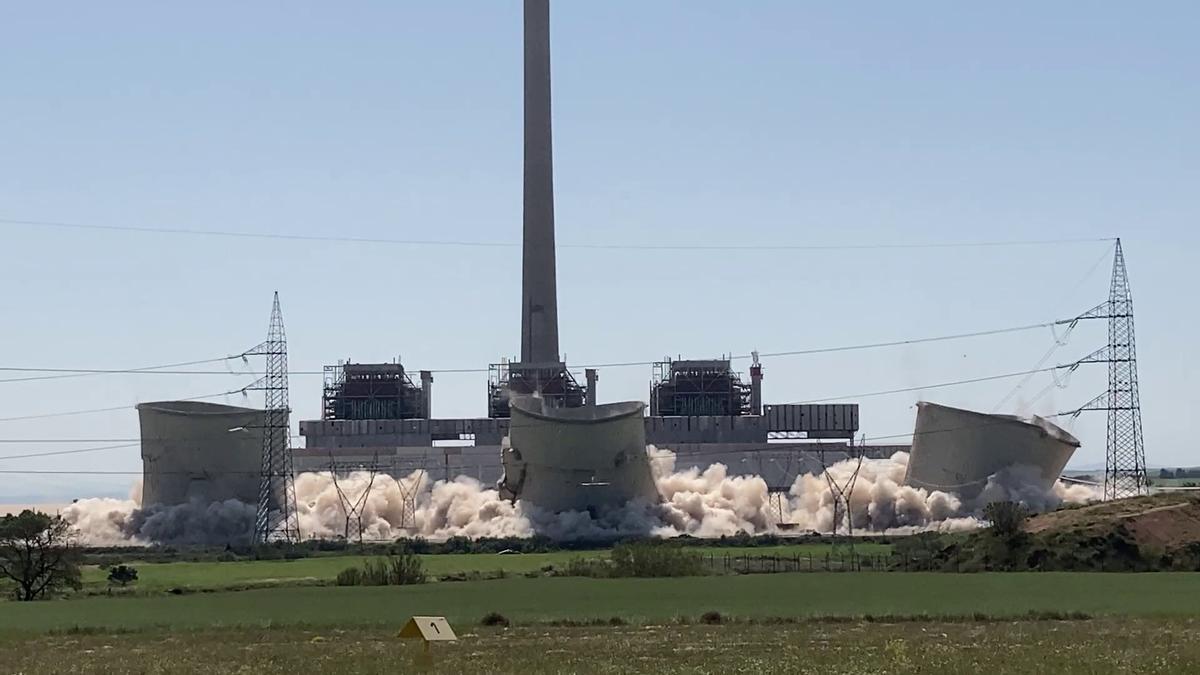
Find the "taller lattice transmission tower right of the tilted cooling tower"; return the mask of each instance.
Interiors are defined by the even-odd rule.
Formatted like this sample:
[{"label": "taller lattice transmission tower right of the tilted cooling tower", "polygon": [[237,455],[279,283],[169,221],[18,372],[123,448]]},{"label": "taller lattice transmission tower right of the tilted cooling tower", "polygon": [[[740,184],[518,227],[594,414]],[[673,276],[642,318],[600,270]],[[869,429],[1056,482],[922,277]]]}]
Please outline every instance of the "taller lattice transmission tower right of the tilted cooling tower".
[{"label": "taller lattice transmission tower right of the tilted cooling tower", "polygon": [[1105,411],[1109,417],[1108,446],[1104,456],[1104,498],[1116,500],[1145,495],[1146,449],[1142,444],[1141,400],[1138,394],[1138,352],[1133,330],[1133,295],[1124,252],[1117,239],[1112,256],[1112,282],[1106,303],[1080,318],[1105,318],[1109,322],[1106,347],[1084,357],[1079,363],[1109,364],[1109,389],[1076,412]]}]

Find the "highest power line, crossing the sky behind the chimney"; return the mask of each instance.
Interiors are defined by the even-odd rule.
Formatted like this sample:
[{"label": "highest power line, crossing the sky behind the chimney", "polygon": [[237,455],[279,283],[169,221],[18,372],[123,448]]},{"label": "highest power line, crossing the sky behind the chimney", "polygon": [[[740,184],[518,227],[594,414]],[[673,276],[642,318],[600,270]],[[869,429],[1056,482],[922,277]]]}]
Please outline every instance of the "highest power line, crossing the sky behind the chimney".
[{"label": "highest power line, crossing the sky behind the chimney", "polygon": [[[86,229],[102,232],[136,232],[143,234],[186,234],[193,237],[226,237],[240,239],[283,239],[292,241],[324,241],[338,244],[390,244],[400,246],[445,246],[511,249],[520,241],[481,241],[464,239],[391,239],[379,237],[334,237],[322,234],[283,234],[274,232],[245,232],[232,229],[194,229],[185,227],[138,227],[130,225],[95,225],[47,220],[0,219],[4,225],[28,227],[52,227],[60,229]],[[1052,246],[1063,244],[1096,244],[1114,241],[1115,238],[1066,238],[1027,239],[1012,241],[929,241],[896,244],[558,244],[559,249],[614,250],[614,251],[868,251],[912,249],[995,249],[1010,246]]]}]

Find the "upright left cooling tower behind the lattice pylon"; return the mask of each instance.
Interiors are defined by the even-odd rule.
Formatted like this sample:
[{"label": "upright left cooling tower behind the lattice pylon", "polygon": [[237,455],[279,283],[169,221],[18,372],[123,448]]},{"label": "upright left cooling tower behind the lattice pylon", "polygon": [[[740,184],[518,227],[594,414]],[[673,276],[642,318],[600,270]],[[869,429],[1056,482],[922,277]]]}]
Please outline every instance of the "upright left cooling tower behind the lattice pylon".
[{"label": "upright left cooling tower behind the lattice pylon", "polygon": [[200,401],[138,405],[142,503],[258,501],[264,413]]}]

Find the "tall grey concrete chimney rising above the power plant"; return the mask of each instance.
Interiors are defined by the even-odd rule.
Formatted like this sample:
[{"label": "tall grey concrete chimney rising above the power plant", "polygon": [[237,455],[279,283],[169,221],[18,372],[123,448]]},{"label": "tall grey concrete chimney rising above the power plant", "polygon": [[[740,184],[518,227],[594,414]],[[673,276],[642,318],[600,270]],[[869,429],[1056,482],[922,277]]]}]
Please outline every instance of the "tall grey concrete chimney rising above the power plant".
[{"label": "tall grey concrete chimney rising above the power plant", "polygon": [[550,0],[524,0],[524,238],[521,363],[557,364],[554,172],[550,126]]}]

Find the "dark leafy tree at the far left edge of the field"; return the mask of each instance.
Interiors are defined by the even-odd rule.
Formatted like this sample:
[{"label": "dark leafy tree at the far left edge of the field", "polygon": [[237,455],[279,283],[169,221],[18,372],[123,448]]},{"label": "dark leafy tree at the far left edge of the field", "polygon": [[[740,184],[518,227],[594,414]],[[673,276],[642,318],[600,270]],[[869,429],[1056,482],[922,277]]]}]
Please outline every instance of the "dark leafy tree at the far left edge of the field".
[{"label": "dark leafy tree at the far left edge of the field", "polygon": [[64,587],[78,590],[71,524],[61,515],[29,509],[0,519],[0,579],[16,584],[18,601],[35,601]]}]

